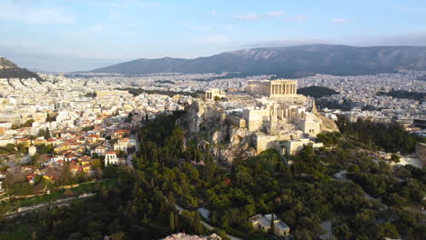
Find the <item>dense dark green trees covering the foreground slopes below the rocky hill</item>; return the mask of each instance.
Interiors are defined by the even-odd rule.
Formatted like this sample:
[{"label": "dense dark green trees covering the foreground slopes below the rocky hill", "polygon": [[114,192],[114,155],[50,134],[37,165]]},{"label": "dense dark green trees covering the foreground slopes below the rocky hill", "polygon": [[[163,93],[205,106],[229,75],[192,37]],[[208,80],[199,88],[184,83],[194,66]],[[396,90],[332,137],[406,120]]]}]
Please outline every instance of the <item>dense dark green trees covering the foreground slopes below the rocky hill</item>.
[{"label": "dense dark green trees covering the foreground slopes below the rocky hill", "polygon": [[[249,224],[249,216],[259,213],[277,214],[291,227],[292,239],[318,239],[325,232],[320,226],[324,221],[332,223],[337,239],[426,235],[419,211],[426,173],[373,161],[369,147],[388,144],[367,135],[367,129],[375,132],[379,125],[340,122],[342,134],[320,135],[327,147],[318,151],[305,147],[299,155],[281,156],[269,150],[236,159],[227,170],[215,163],[208,145],[200,149],[194,141],[185,143],[184,132],[175,125],[182,114],[159,115],[135,131],[140,151],[134,168],[108,171],[108,177],[117,176],[117,187],[100,187],[96,198],[69,209],[7,220],[0,231],[13,232],[19,222],[29,229],[27,238],[34,239],[158,239],[175,231],[200,235],[208,231],[194,210],[205,206],[211,225],[222,229],[214,232],[225,236],[225,230],[243,239],[271,238]],[[397,135],[391,143],[406,137],[393,127]],[[370,137],[370,142],[361,137]],[[389,145],[400,151],[405,147]],[[332,177],[341,170],[349,172],[347,180]],[[188,211],[178,215],[174,204]]]}]

